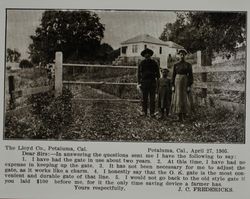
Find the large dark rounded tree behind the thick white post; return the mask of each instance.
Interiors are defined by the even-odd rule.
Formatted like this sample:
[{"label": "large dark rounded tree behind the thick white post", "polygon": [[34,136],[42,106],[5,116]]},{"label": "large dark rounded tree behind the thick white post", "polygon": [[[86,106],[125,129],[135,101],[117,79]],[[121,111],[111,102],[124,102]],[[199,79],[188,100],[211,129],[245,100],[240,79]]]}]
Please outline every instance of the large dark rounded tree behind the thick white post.
[{"label": "large dark rounded tree behind the thick white post", "polygon": [[33,63],[48,63],[61,50],[69,57],[93,59],[104,37],[104,25],[90,11],[45,11],[29,46]]}]

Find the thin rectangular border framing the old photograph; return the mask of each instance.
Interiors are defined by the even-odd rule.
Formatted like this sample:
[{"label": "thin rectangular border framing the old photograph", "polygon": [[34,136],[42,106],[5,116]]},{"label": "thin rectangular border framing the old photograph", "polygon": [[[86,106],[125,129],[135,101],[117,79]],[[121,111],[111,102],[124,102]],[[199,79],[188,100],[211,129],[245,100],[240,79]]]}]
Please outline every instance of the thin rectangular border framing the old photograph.
[{"label": "thin rectangular border framing the old photograph", "polygon": [[[112,141],[112,140],[82,140],[82,139],[72,139],[72,140],[68,140],[68,139],[23,139],[23,138],[20,138],[20,139],[9,139],[9,138],[6,138],[5,137],[5,122],[6,122],[6,92],[5,92],[5,89],[6,89],[6,64],[7,64],[7,61],[6,61],[6,50],[7,50],[7,18],[8,18],[8,13],[7,11],[8,10],[39,10],[39,11],[57,11],[57,10],[62,10],[62,11],[131,11],[131,12],[143,12],[143,11],[147,11],[147,12],[209,12],[209,13],[218,13],[218,12],[230,12],[230,13],[245,13],[246,14],[246,49],[245,49],[245,52],[246,52],[246,57],[245,57],[245,96],[244,96],[244,110],[245,112],[243,113],[244,114],[244,142],[242,143],[217,143],[217,142],[169,142],[169,141],[166,141],[166,142],[163,142],[163,141]],[[211,145],[211,144],[218,144],[218,145],[222,145],[222,144],[226,144],[226,145],[245,145],[247,143],[247,136],[246,136],[246,133],[247,133],[247,128],[246,128],[246,115],[247,115],[247,58],[248,58],[248,51],[247,51],[247,48],[248,48],[248,11],[244,11],[244,10],[200,10],[200,9],[193,9],[193,10],[182,10],[182,9],[176,9],[176,10],[162,10],[162,9],[119,9],[119,8],[112,8],[112,9],[108,9],[108,8],[80,8],[80,9],[76,9],[76,8],[68,8],[68,9],[65,9],[65,8],[14,8],[14,7],[6,7],[5,8],[5,49],[4,49],[4,89],[3,89],[3,96],[4,96],[4,99],[3,99],[3,141],[42,141],[42,142],[48,142],[48,141],[63,141],[63,142],[102,142],[102,143],[109,143],[109,142],[117,142],[117,143],[136,143],[136,144],[163,144],[163,143],[166,143],[166,144],[208,144],[208,145]]]}]

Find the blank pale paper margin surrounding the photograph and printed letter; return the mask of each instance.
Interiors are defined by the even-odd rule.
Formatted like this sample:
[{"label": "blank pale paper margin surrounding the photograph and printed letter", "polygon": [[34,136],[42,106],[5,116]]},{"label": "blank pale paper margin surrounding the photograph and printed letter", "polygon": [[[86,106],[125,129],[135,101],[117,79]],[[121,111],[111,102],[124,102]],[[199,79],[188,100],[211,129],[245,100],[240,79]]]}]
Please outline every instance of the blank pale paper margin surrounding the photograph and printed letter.
[{"label": "blank pale paper margin surrounding the photograph and printed letter", "polygon": [[[24,144],[34,144],[34,145],[58,145],[58,146],[87,146],[89,151],[101,151],[101,152],[129,152],[137,151],[145,152],[147,147],[154,146],[156,148],[230,148],[232,153],[238,155],[239,159],[246,160],[250,163],[250,143],[249,143],[249,117],[247,116],[246,122],[246,144],[169,144],[169,143],[105,143],[105,142],[69,142],[69,141],[3,141],[2,140],[2,129],[3,129],[3,94],[4,94],[4,49],[5,49],[5,8],[58,8],[58,9],[150,9],[150,10],[211,10],[211,11],[249,11],[250,5],[247,0],[147,0],[147,1],[135,1],[135,0],[78,0],[78,1],[34,1],[34,0],[0,0],[0,74],[1,74],[1,101],[0,101],[0,164],[9,158],[10,160],[15,160],[19,157],[11,157],[3,151],[4,145],[11,143],[16,145]],[[248,14],[248,26],[249,26],[249,14]],[[249,43],[249,32],[248,39]],[[248,46],[249,52],[249,46]],[[247,56],[249,58],[249,55]],[[248,60],[247,60],[248,63]],[[247,70],[247,84],[249,84],[249,70]],[[249,86],[247,86],[247,107],[249,106]],[[250,167],[248,164],[248,171]],[[0,169],[0,172],[3,172]],[[250,172],[247,174],[248,183],[245,186],[235,186],[233,193],[177,193],[177,192],[167,192],[164,189],[130,189],[127,192],[84,192],[84,191],[73,191],[72,187],[62,186],[47,186],[39,189],[34,189],[32,185],[30,186],[11,186],[9,190],[0,186],[0,198],[241,198],[247,199],[250,196]],[[2,173],[0,173],[2,175]],[[241,183],[242,184],[242,183]]]}]

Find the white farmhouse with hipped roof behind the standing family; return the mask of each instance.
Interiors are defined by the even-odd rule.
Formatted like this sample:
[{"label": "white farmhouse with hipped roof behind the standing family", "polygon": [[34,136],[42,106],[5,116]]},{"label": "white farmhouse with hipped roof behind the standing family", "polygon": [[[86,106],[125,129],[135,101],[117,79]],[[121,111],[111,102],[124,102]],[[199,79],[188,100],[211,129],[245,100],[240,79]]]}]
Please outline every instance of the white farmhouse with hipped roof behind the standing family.
[{"label": "white farmhouse with hipped roof behind the standing family", "polygon": [[141,51],[145,48],[153,50],[153,58],[160,59],[161,67],[166,67],[168,56],[176,56],[177,50],[183,47],[172,41],[165,42],[148,34],[142,34],[121,42],[120,57],[116,62],[137,64],[143,59]]}]

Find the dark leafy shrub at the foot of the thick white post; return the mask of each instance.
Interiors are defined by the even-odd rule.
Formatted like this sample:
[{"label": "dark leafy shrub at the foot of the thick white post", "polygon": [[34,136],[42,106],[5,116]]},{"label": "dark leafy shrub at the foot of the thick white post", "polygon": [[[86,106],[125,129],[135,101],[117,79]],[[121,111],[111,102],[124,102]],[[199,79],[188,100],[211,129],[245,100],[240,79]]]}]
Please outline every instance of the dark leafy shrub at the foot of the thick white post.
[{"label": "dark leafy shrub at the foot of the thick white post", "polygon": [[54,97],[52,93],[31,97],[32,113],[42,122],[34,138],[60,138],[72,123],[72,94],[63,89],[62,95]]}]

